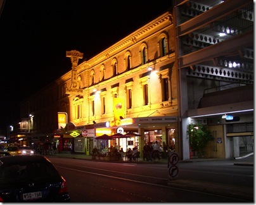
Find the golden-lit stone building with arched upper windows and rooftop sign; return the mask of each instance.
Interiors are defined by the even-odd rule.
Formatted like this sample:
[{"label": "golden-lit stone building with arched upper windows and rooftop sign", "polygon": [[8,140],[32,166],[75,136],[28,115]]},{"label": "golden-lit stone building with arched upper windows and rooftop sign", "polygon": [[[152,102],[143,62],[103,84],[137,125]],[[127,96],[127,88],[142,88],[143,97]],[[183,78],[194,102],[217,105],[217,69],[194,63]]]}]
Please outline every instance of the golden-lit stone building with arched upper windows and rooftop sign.
[{"label": "golden-lit stone building with arched upper windows and rooftop sign", "polygon": [[[179,149],[172,25],[172,15],[164,13],[79,64],[82,53],[67,51],[72,70],[58,79],[59,106],[74,126],[63,139],[75,146],[75,152],[84,144],[90,149],[105,147],[93,137],[117,132],[141,136],[113,139],[108,146],[117,143],[124,151],[134,146],[141,150],[145,142],[158,140]],[[86,142],[82,130],[91,134]],[[72,132],[80,136],[70,137]]]}]

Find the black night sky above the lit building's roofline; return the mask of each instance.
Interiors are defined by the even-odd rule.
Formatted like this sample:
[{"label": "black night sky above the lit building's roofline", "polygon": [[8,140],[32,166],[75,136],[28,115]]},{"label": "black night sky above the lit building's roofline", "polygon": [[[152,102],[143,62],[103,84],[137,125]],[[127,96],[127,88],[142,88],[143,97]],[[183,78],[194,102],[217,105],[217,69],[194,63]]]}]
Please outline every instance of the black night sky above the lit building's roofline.
[{"label": "black night sky above the lit building's roofline", "polygon": [[66,51],[84,53],[81,63],[171,6],[171,0],[6,0],[0,16],[0,130],[20,120],[23,99],[71,70]]}]

